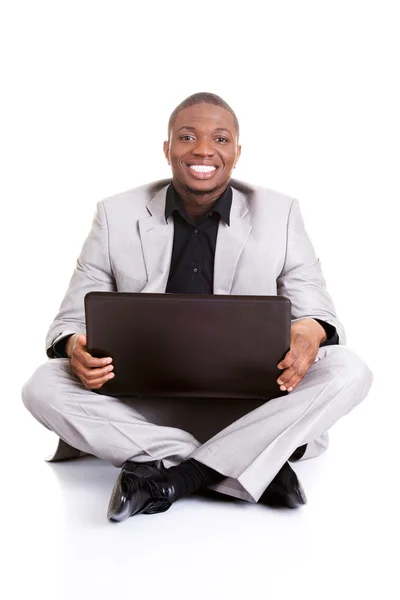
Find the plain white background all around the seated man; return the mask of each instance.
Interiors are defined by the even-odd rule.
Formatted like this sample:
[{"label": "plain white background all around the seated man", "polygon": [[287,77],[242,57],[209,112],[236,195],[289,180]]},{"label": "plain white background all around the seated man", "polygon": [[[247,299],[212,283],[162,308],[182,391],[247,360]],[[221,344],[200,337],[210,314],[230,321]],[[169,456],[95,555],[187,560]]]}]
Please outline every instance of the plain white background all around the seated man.
[{"label": "plain white background all around the seated man", "polygon": [[[53,599],[89,590],[106,597],[110,589],[150,598],[160,590],[178,598],[271,590],[350,598],[375,589],[397,597],[398,7],[385,0],[2,2],[2,515],[15,551],[12,591],[18,580],[31,597]],[[236,111],[243,150],[235,177],[300,200],[348,346],[375,382],[335,426],[326,457],[299,468],[314,494],[303,516],[268,512],[266,526],[267,513],[246,510],[239,519],[231,506],[189,503],[179,519],[141,517],[121,525],[125,537],[117,538],[104,506],[116,471],[86,467],[86,478],[75,463],[60,483],[60,471],[43,462],[55,437],[25,411],[20,389],[46,359],[45,333],[95,203],[169,175],[168,117],[198,91],[219,94]],[[82,513],[87,498],[96,505],[93,489],[92,496],[85,490],[96,469],[107,474],[97,521]],[[71,489],[81,494],[74,504]],[[211,517],[201,521],[207,510]],[[214,535],[210,518],[225,523],[228,513]],[[76,558],[82,539],[79,561],[82,553],[92,557],[90,568]],[[129,571],[138,565],[142,576]],[[149,566],[161,569],[161,580]],[[194,588],[185,588],[191,578]],[[123,592],[129,581],[138,587]]]}]

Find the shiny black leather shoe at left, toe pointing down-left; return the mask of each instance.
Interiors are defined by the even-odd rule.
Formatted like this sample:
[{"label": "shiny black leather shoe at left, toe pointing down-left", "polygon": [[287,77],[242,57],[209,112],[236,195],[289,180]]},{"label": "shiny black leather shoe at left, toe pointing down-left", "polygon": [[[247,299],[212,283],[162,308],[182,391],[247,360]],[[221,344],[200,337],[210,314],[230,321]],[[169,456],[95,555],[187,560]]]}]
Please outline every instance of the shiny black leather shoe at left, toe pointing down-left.
[{"label": "shiny black leather shoe at left, toe pointing down-left", "polygon": [[175,500],[175,488],[168,481],[160,461],[126,461],[115,482],[107,510],[110,521],[124,521],[133,515],[168,510]]}]

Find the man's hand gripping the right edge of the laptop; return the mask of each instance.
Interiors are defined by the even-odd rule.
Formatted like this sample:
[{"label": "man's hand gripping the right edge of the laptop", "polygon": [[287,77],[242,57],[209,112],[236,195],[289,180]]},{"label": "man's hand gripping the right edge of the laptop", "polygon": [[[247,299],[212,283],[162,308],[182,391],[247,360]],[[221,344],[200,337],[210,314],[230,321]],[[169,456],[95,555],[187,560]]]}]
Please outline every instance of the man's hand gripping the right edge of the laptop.
[{"label": "man's hand gripping the right edge of the laptop", "polygon": [[325,340],[325,330],[315,319],[302,319],[292,324],[290,350],[278,364],[278,368],[283,369],[277,379],[282,391],[294,390],[315,361],[320,343]]}]

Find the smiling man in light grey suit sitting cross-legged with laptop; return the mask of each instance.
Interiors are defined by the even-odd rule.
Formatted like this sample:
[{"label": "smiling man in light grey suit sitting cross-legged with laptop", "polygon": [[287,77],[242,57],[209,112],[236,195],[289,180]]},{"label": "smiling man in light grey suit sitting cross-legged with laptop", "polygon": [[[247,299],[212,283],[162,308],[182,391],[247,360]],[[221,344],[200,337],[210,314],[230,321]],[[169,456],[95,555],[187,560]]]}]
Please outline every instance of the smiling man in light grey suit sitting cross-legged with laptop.
[{"label": "smiling man in light grey suit sitting cross-legged with laptop", "polygon": [[[323,452],[327,430],[371,386],[369,368],[344,347],[298,202],[231,179],[238,140],[234,112],[214,94],[174,110],[164,143],[172,180],[99,202],[47,335],[53,360],[23,388],[28,410],[60,437],[53,460],[94,454],[122,466],[110,520],[167,510],[207,487],[304,504],[288,460]],[[112,357],[94,358],[85,346],[83,300],[93,290],[287,296],[291,342],[277,386],[288,393],[242,405],[102,395],[118,373]]]}]

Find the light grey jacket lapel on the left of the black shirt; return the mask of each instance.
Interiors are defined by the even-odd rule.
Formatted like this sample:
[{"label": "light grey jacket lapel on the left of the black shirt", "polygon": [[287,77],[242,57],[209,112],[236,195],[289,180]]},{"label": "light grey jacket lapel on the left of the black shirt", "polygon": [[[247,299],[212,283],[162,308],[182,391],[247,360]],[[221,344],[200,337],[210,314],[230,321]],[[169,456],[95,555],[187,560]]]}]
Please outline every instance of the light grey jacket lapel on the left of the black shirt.
[{"label": "light grey jacket lapel on the left of the black shirt", "polygon": [[150,216],[139,220],[147,284],[143,292],[163,293],[167,287],[174,238],[173,219],[165,221],[165,197],[162,188],[147,205]]}]

